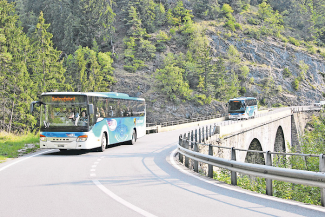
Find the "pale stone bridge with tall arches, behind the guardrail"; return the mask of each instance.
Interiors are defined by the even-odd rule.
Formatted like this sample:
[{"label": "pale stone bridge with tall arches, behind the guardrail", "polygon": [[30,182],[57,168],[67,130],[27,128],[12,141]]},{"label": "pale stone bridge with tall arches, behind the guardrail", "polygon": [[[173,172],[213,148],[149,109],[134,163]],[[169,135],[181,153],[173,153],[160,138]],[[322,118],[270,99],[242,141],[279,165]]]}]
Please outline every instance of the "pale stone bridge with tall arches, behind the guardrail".
[{"label": "pale stone bridge with tall arches, behind the guardrail", "polygon": [[[241,149],[287,152],[288,148],[299,148],[298,136],[306,125],[308,112],[301,111],[301,108],[300,112],[293,112],[288,108],[228,125],[222,122],[216,126],[218,134],[208,142]],[[230,151],[223,148],[213,148],[213,155],[230,159]],[[236,150],[236,160],[242,162],[264,164],[264,159],[265,154],[262,153]]]}]

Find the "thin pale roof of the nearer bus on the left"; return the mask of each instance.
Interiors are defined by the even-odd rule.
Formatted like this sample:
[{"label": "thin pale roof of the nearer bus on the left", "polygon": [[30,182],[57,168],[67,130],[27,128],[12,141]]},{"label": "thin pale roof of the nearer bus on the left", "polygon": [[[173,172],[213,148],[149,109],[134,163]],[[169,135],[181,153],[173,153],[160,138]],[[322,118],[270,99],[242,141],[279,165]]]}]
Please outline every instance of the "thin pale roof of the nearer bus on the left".
[{"label": "thin pale roof of the nearer bus on the left", "polygon": [[41,95],[89,95],[110,98],[144,100],[144,98],[130,97],[128,94],[121,92],[43,92]]}]

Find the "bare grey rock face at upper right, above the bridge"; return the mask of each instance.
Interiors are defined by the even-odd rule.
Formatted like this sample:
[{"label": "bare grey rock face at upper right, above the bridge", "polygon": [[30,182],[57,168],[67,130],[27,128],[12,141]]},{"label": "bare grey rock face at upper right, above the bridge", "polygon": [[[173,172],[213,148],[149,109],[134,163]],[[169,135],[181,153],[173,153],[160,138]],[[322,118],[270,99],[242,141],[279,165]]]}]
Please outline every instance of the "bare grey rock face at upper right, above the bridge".
[{"label": "bare grey rock face at upper right, above the bridge", "polygon": [[[289,43],[283,43],[278,39],[256,40],[254,38],[230,37],[223,39],[222,35],[210,35],[211,45],[215,56],[223,56],[227,53],[229,45],[234,45],[241,53],[241,61],[248,65],[250,77],[254,78],[254,84],[247,85],[245,95],[253,95],[258,99],[265,98],[266,103],[281,103],[283,105],[311,104],[314,100],[323,98],[325,91],[324,80],[319,72],[325,71],[324,57],[318,54],[310,54],[302,47]],[[294,78],[299,76],[299,61],[308,65],[305,79],[300,81],[299,88],[292,86]],[[287,68],[292,75],[283,76],[283,70]],[[282,91],[273,94],[263,94],[262,87],[265,78],[272,77],[274,88],[281,85]]]}]

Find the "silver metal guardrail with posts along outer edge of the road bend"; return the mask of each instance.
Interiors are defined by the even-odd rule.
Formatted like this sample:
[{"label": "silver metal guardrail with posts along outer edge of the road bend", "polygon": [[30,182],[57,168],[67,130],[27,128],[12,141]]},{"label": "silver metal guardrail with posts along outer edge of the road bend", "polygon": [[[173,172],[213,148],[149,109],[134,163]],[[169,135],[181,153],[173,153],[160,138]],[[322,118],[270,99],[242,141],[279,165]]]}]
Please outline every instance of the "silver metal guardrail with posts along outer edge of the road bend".
[{"label": "silver metal guardrail with posts along outer edge of the road bend", "polygon": [[[291,113],[299,112],[299,108],[286,108],[291,109]],[[311,109],[311,107],[310,107]],[[285,109],[280,109],[285,110]],[[308,109],[309,110],[309,109]],[[276,112],[279,112],[276,110]],[[270,114],[269,112],[267,114]],[[262,115],[263,116],[263,115]],[[239,120],[238,120],[239,121]],[[228,121],[229,122],[229,121]],[[204,133],[205,131],[205,133]],[[179,136],[178,140],[178,153],[179,161],[183,162],[183,155],[185,156],[185,166],[188,166],[188,159],[191,158],[194,160],[193,169],[195,172],[198,172],[198,162],[203,162],[208,164],[208,176],[212,178],[213,176],[213,166],[220,168],[228,169],[231,171],[231,184],[237,185],[237,176],[236,172],[241,172],[248,175],[258,176],[265,178],[266,182],[266,194],[272,195],[272,179],[304,184],[309,186],[320,187],[320,197],[321,205],[325,206],[325,154],[304,154],[304,153],[286,153],[286,152],[273,152],[273,151],[259,151],[259,150],[249,150],[241,149],[235,147],[225,147],[212,144],[203,143],[207,141],[209,137],[216,134],[216,124],[214,126],[210,125],[195,129],[194,131],[184,133]],[[203,154],[198,152],[198,144],[208,146],[208,154]],[[231,150],[231,159],[227,160],[221,157],[212,156],[213,147],[225,148]],[[265,165],[246,163],[236,161],[235,150],[263,153],[265,154]],[[279,155],[298,155],[298,156],[308,156],[308,157],[318,157],[319,158],[319,172],[315,171],[305,171],[298,169],[289,169],[289,168],[279,168],[272,166],[271,154]]]}]

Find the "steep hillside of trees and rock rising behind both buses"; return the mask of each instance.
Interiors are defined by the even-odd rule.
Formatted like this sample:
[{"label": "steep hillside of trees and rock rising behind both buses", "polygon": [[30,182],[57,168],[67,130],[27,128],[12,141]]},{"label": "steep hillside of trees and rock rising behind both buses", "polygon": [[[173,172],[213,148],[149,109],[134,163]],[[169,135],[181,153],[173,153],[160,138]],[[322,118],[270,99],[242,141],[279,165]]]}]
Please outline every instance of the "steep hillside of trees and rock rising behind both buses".
[{"label": "steep hillside of trees and rock rising behind both buses", "polygon": [[[0,0],[0,129],[46,91],[121,91],[148,122],[325,95],[325,0]],[[37,130],[37,129],[35,129]]]}]

